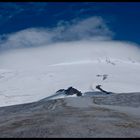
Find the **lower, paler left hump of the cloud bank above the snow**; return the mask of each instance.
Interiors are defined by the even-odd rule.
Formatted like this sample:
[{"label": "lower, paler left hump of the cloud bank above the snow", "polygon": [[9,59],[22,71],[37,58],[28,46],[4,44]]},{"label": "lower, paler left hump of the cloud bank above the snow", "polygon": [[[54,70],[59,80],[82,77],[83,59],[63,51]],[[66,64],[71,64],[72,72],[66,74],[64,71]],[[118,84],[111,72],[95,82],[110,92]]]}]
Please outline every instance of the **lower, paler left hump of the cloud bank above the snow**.
[{"label": "lower, paler left hump of the cloud bank above the snow", "polygon": [[49,43],[52,34],[45,29],[26,29],[5,36],[5,41],[1,43],[2,49],[36,47]]}]

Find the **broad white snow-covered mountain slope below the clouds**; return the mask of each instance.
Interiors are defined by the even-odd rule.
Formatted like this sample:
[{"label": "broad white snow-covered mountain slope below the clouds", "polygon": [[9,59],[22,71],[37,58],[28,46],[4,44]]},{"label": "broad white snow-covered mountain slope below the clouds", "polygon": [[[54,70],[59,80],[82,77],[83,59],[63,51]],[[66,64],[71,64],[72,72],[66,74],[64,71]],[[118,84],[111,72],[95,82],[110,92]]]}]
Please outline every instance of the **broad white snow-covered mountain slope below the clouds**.
[{"label": "broad white snow-covered mountain slope below the clouds", "polygon": [[130,43],[75,41],[11,50],[0,54],[0,106],[37,101],[69,86],[140,92],[139,72],[140,49]]}]

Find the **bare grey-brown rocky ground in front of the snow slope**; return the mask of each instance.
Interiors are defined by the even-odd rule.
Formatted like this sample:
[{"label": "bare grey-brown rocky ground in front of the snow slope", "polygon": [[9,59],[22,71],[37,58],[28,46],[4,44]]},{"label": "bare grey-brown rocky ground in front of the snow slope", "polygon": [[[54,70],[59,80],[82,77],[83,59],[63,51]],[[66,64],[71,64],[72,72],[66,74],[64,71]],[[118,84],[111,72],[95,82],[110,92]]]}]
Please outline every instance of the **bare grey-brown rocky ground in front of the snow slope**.
[{"label": "bare grey-brown rocky ground in front of the snow slope", "polygon": [[0,137],[140,137],[140,93],[94,94],[0,108]]}]

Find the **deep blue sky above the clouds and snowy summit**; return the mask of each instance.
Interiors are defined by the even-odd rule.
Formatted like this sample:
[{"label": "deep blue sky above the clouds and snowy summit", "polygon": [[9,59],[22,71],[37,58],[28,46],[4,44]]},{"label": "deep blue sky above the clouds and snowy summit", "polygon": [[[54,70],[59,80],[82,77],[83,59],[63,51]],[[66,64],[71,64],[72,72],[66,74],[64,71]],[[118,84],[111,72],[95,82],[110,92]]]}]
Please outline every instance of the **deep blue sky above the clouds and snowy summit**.
[{"label": "deep blue sky above the clouds and snowy summit", "polygon": [[1,2],[0,35],[101,17],[114,40],[140,44],[140,2]]}]

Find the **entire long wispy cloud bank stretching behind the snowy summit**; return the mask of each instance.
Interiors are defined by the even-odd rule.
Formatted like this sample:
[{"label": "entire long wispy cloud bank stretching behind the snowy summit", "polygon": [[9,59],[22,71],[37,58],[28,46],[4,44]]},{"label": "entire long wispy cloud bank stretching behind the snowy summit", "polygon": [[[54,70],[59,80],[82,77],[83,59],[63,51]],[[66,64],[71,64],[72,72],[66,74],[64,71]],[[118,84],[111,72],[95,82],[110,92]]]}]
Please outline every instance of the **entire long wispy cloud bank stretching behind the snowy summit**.
[{"label": "entire long wispy cloud bank stretching behind the snowy summit", "polygon": [[[36,47],[55,42],[109,40],[113,33],[101,17],[70,22],[61,21],[54,28],[29,28],[0,37],[1,49]],[[3,38],[5,38],[3,40]]]}]

